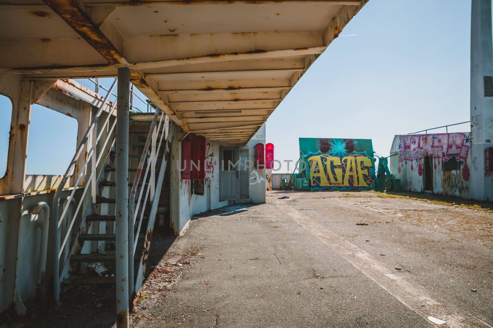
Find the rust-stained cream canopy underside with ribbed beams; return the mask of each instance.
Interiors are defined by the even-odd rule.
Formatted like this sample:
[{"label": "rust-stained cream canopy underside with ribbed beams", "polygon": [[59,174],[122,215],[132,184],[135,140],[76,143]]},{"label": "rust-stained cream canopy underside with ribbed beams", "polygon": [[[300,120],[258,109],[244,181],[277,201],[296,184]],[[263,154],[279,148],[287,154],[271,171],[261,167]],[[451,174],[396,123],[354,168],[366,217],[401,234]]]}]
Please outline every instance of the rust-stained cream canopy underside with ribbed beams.
[{"label": "rust-stained cream canopy underside with ribbed beams", "polygon": [[245,144],[367,0],[7,0],[0,73],[131,80],[184,131]]}]

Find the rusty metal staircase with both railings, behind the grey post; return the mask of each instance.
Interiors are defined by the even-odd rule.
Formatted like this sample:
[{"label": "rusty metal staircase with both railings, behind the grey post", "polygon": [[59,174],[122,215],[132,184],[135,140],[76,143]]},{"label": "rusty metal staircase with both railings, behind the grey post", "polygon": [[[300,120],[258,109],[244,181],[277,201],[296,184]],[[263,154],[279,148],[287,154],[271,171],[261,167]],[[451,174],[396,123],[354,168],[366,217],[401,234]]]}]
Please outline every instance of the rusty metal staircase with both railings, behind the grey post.
[{"label": "rusty metal staircase with both railings, behind the grey post", "polygon": [[[86,269],[101,267],[100,264],[103,264],[110,268],[111,272],[116,262],[116,117],[115,106],[110,106],[107,102],[115,84],[116,79],[55,193],[53,217],[58,221],[59,227],[56,234],[52,232],[57,253],[54,254],[54,260],[58,262],[54,264],[54,268],[58,267],[58,274],[54,277],[56,301],[59,301],[61,280],[64,283],[76,284],[84,281],[114,284],[115,276],[118,276],[115,272],[114,276],[109,274],[95,277],[94,274],[87,274]],[[105,111],[105,107],[109,108]],[[106,115],[103,115],[104,113]],[[162,191],[172,136],[173,124],[160,110],[156,110],[155,113],[130,113],[127,186],[130,303],[138,295],[143,283],[158,208],[161,212],[169,209],[169,198],[166,199],[166,193]],[[83,149],[86,149],[87,153],[85,163],[82,168],[75,168]],[[79,175],[59,215],[60,193],[72,172],[79,172]],[[87,194],[88,190],[91,190],[90,194]],[[68,210],[70,204],[75,204],[75,211],[70,213],[71,215]],[[58,232],[61,237],[58,236]]]}]

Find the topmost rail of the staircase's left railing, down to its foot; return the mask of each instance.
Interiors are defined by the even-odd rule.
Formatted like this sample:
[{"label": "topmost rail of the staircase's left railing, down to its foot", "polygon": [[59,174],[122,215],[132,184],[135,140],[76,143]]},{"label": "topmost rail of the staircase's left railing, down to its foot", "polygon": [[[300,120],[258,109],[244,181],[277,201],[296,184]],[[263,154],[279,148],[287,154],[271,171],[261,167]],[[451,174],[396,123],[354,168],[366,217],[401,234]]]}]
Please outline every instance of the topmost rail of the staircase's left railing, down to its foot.
[{"label": "topmost rail of the staircase's left railing, down to its foot", "polygon": [[[106,102],[109,99],[109,96],[111,95],[111,91],[114,89],[116,85],[117,79],[113,81],[113,84],[109,88],[108,93],[106,94],[105,99],[101,103],[100,108],[96,112],[96,115],[94,116],[93,121],[89,125],[89,127],[86,130],[86,133],[84,134],[84,137],[82,138],[82,141],[80,142],[77,151],[75,152],[75,155],[72,158],[72,161],[70,162],[69,168],[67,169],[67,172],[63,176],[62,180],[60,181],[60,184],[58,185],[57,191],[55,192],[55,195],[53,196],[53,213],[50,217],[50,238],[53,240],[54,247],[53,247],[53,296],[55,300],[55,305],[58,305],[60,303],[60,257],[59,257],[59,251],[60,251],[60,240],[58,239],[58,207],[60,204],[60,195],[63,191],[63,188],[65,186],[65,183],[67,183],[67,180],[70,177],[70,174],[75,167],[75,164],[77,163],[77,160],[80,157],[80,154],[86,147],[86,143],[89,140],[89,136],[91,135],[94,126],[96,125],[99,117],[101,116],[101,113],[103,113],[103,109],[106,106]],[[69,228],[70,229],[70,228]],[[70,232],[69,232],[70,233]]]}]

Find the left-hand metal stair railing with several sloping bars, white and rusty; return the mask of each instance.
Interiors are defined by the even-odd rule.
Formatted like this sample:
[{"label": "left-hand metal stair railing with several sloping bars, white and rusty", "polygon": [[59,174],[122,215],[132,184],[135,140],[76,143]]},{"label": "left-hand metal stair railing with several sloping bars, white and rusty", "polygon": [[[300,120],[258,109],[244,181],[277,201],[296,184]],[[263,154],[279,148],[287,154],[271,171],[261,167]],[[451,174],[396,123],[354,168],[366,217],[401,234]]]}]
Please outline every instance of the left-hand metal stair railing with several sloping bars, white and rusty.
[{"label": "left-hand metal stair railing with several sloping bars, white and rusty", "polygon": [[[109,100],[110,95],[112,94],[114,87],[116,86],[116,83],[117,83],[117,79],[115,78],[113,81],[113,84],[107,90],[108,92],[106,94],[106,97],[103,100],[98,111],[96,112],[94,119],[92,120],[91,124],[87,128],[87,131],[84,134],[84,137],[82,138],[82,141],[79,144],[77,151],[75,152],[75,155],[73,156],[72,161],[70,162],[69,168],[67,169],[67,172],[63,176],[63,178],[62,178],[62,180],[61,180],[61,182],[57,188],[57,191],[55,192],[55,196],[53,199],[53,214],[50,217],[50,221],[51,221],[50,222],[50,236],[51,236],[51,239],[53,240],[53,242],[55,244],[54,250],[53,250],[53,289],[54,289],[53,292],[54,292],[56,303],[60,302],[60,257],[62,256],[62,253],[64,251],[64,247],[70,238],[71,230],[72,230],[73,224],[75,222],[75,218],[77,217],[77,214],[78,214],[80,208],[82,207],[82,204],[84,202],[84,197],[87,193],[87,190],[89,189],[89,185],[91,185],[92,201],[93,201],[93,203],[96,203],[97,180],[99,179],[102,172],[104,172],[104,166],[103,166],[103,168],[101,169],[101,171],[98,174],[96,172],[97,167],[98,167],[98,164],[100,163],[101,159],[103,158],[103,155],[105,154],[104,150],[106,149],[106,145],[108,144],[108,142],[110,142],[110,140],[111,140],[111,145],[109,146],[109,150],[106,152],[105,160],[106,160],[106,157],[109,155],[109,152],[113,148],[113,145],[115,143],[115,136],[113,134],[113,130],[115,128],[116,119],[113,120],[113,124],[111,125],[111,127],[109,127],[109,119],[111,118],[111,116],[115,110],[115,104],[114,103],[109,104],[108,100]],[[103,113],[106,106],[109,107],[108,114],[107,114],[105,122],[100,127],[99,134],[97,134],[97,123],[98,123],[98,120],[100,119],[101,114]],[[103,135],[103,132],[105,132],[105,131],[107,131],[107,135],[106,135],[105,141],[103,142],[101,152],[98,155],[97,154],[98,142],[100,141],[100,139]],[[61,196],[62,191],[64,191],[64,186],[67,183],[67,180],[69,179],[70,175],[72,174],[72,171],[74,170],[75,165],[77,164],[77,161],[78,161],[80,155],[82,154],[82,151],[84,149],[89,149],[89,147],[91,147],[91,148],[87,152],[86,161],[84,162],[82,167],[79,168],[80,173],[77,176],[77,179],[76,179],[75,184],[74,184],[74,188],[73,188],[72,192],[70,193],[70,196],[67,199],[67,201],[64,202],[62,214],[59,216],[58,215],[58,213],[59,213],[58,209],[59,209],[59,203],[60,203],[60,196]],[[60,239],[58,238],[58,228],[62,225],[62,221],[64,220],[64,217],[67,214],[67,211],[69,210],[70,203],[72,202],[72,200],[74,200],[75,190],[77,189],[76,187],[78,186],[82,177],[86,174],[85,169],[87,168],[89,162],[91,162],[91,174],[88,177],[88,181],[90,181],[90,183],[85,183],[84,189],[82,191],[82,196],[80,197],[80,200],[77,204],[75,212],[73,213],[71,218],[68,218],[68,219],[70,219],[70,224],[69,224],[69,227],[65,233],[66,235],[63,238],[62,245],[60,245]]]}]

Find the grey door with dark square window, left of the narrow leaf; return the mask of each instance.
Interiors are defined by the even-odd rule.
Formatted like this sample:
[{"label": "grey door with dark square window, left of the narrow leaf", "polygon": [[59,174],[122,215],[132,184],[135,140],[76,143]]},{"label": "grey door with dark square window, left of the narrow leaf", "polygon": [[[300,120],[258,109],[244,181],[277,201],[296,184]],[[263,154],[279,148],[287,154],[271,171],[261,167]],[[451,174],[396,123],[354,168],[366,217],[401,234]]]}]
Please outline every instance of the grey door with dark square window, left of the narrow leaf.
[{"label": "grey door with dark square window, left of the narrow leaf", "polygon": [[239,170],[237,147],[221,147],[219,158],[219,198],[236,201],[239,194]]}]

